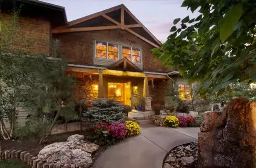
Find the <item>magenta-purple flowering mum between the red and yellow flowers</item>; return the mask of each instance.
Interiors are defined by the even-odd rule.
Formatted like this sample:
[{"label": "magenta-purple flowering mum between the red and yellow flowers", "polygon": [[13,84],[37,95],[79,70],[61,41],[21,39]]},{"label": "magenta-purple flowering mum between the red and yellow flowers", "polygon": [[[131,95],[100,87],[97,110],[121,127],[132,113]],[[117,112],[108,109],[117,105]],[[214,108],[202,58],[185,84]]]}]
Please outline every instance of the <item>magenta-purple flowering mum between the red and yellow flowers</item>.
[{"label": "magenta-purple flowering mum between the red and yellow flowers", "polygon": [[125,123],[120,123],[119,121],[111,124],[111,135],[114,138],[122,139],[126,136],[126,125]]}]

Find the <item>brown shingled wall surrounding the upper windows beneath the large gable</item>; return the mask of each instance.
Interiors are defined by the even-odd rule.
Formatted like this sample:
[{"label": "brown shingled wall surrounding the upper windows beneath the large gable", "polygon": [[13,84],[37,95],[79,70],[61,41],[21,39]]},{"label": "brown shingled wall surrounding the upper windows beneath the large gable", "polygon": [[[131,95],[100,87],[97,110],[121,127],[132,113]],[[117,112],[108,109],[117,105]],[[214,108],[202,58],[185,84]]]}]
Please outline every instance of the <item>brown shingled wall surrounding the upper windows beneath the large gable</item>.
[{"label": "brown shingled wall surrounding the upper windows beneath the large gable", "polygon": [[153,46],[127,31],[116,29],[54,34],[53,38],[59,40],[60,51],[69,62],[93,64],[93,40],[107,40],[141,47],[143,50],[143,70],[145,71],[165,72],[168,70],[164,68],[162,62],[154,61],[154,55],[150,51],[154,48]]}]

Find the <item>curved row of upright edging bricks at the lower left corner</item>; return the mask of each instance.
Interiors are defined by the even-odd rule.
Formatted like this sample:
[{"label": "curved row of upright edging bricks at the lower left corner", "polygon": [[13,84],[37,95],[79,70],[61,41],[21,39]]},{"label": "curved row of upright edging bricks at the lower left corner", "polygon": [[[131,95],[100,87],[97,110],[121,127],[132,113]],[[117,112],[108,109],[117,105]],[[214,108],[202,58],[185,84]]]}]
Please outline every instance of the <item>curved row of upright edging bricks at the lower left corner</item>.
[{"label": "curved row of upright edging bricks at the lower left corner", "polygon": [[[47,162],[42,162],[37,156],[30,154],[27,151],[22,150],[6,150],[0,152],[0,160],[16,159],[19,160],[30,168],[76,168],[76,165],[60,165],[60,164],[48,164]],[[79,167],[80,168],[80,167]]]}]

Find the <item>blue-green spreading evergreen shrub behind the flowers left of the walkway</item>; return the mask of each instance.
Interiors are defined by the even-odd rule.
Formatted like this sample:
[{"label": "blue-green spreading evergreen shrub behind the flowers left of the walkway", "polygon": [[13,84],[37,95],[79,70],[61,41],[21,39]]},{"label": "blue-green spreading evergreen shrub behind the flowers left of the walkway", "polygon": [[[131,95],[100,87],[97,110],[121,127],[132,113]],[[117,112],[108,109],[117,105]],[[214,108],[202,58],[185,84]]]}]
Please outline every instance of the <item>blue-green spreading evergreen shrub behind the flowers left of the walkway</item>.
[{"label": "blue-green spreading evergreen shrub behind the flowers left of the walkway", "polygon": [[114,100],[98,99],[92,103],[92,108],[84,113],[86,121],[92,123],[114,123],[123,122],[126,116],[123,113],[124,107],[121,103]]}]

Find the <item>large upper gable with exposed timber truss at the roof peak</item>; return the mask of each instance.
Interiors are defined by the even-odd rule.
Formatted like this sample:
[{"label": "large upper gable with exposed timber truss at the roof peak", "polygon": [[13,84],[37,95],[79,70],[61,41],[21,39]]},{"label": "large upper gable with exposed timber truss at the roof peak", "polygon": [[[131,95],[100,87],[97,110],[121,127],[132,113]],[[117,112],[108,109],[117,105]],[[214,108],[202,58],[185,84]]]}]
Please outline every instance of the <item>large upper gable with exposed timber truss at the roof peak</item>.
[{"label": "large upper gable with exposed timber truss at the roof peak", "polygon": [[54,28],[52,33],[109,29],[126,30],[154,47],[161,46],[161,42],[123,4],[68,22]]}]

